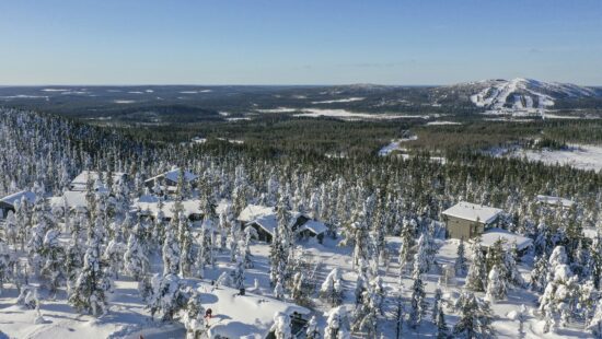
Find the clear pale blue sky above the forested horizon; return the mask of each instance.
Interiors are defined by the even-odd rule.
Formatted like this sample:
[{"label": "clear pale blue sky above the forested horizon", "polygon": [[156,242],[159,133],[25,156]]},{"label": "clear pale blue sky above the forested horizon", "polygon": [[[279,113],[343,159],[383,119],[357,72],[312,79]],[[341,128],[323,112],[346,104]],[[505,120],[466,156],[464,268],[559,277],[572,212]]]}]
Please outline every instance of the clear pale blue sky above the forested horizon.
[{"label": "clear pale blue sky above the forested horizon", "polygon": [[3,0],[0,84],[602,85],[600,0]]}]

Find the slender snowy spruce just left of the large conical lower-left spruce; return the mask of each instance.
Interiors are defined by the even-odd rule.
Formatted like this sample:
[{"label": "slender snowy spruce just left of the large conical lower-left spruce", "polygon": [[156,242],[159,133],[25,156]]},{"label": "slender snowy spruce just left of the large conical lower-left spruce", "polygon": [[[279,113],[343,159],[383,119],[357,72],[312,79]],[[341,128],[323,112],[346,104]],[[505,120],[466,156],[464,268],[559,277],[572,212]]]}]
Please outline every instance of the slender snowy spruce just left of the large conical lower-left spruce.
[{"label": "slender snowy spruce just left of the large conical lower-left spruce", "polygon": [[65,280],[65,248],[59,243],[59,232],[48,230],[42,249],[42,277],[51,295]]}]

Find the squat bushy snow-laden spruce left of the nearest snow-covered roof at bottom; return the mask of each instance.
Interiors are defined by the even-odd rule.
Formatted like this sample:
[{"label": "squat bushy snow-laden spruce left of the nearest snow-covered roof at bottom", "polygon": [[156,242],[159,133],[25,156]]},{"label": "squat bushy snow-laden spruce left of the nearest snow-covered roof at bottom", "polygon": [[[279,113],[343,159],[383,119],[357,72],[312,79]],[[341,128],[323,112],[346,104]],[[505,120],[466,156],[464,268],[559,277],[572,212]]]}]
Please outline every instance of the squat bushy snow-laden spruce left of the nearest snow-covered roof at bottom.
[{"label": "squat bushy snow-laden spruce left of the nearest snow-covered roof at bottom", "polygon": [[174,316],[186,306],[182,282],[175,273],[167,272],[163,277],[154,274],[152,278],[153,293],[150,296],[149,308],[151,316],[161,314],[161,319],[171,322]]}]

